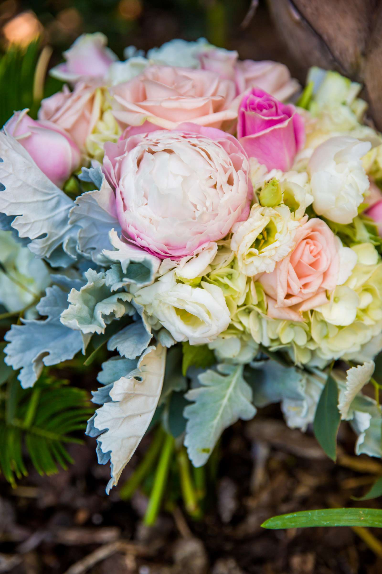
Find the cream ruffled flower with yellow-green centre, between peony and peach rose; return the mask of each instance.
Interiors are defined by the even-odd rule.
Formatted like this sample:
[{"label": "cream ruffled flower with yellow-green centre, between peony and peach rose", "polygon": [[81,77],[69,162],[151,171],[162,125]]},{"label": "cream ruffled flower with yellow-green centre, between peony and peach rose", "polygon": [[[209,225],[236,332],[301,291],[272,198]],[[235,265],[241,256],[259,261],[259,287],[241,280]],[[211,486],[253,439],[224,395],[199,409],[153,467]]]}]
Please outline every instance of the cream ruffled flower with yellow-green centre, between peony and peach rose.
[{"label": "cream ruffled flower with yellow-green centre, between peony and peach rose", "polygon": [[293,249],[300,224],[286,205],[253,205],[249,218],[233,226],[231,249],[237,255],[239,271],[249,277],[272,272],[277,261]]}]

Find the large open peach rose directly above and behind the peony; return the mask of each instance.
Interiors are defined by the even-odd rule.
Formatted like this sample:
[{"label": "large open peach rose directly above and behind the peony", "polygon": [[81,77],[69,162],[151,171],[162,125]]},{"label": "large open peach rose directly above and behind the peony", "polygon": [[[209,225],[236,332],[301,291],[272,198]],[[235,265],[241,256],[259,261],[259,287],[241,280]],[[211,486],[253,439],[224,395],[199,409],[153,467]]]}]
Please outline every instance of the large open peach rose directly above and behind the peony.
[{"label": "large open peach rose directly above and behind the peony", "polygon": [[111,88],[111,94],[118,104],[114,115],[123,125],[149,121],[172,130],[192,122],[229,130],[238,113],[234,82],[201,69],[150,66]]}]

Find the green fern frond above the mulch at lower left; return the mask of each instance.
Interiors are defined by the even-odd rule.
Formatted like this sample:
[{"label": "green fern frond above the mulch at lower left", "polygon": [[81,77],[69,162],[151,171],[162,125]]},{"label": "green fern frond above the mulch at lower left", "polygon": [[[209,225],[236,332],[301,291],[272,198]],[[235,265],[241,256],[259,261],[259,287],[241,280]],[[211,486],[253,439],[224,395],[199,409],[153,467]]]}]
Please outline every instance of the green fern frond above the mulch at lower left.
[{"label": "green fern frond above the mulch at lower left", "polygon": [[[5,388],[5,390],[3,390]],[[52,475],[73,463],[65,444],[82,441],[93,413],[86,391],[42,376],[33,389],[22,389],[15,374],[0,391],[0,470],[15,486],[27,475],[25,453],[37,472]]]}]

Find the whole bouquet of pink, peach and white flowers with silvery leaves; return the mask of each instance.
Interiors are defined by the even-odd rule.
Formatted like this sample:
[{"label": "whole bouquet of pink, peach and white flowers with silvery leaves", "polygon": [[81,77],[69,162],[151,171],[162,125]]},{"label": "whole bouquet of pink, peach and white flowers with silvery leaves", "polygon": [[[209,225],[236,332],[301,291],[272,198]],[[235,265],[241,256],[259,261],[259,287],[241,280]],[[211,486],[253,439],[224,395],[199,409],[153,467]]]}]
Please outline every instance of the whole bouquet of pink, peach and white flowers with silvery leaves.
[{"label": "whole bouquet of pink, peach and white flowers with silvery leaves", "polygon": [[5,363],[27,389],[107,346],[87,429],[107,491],[154,424],[164,482],[175,439],[202,467],[273,402],[333,460],[341,419],[381,457],[382,139],[360,84],[312,68],[301,91],[202,38],[125,52],[78,38],[51,70],[68,85],[0,134],[2,253],[45,290],[20,304],[4,255],[2,303],[29,313]]}]

